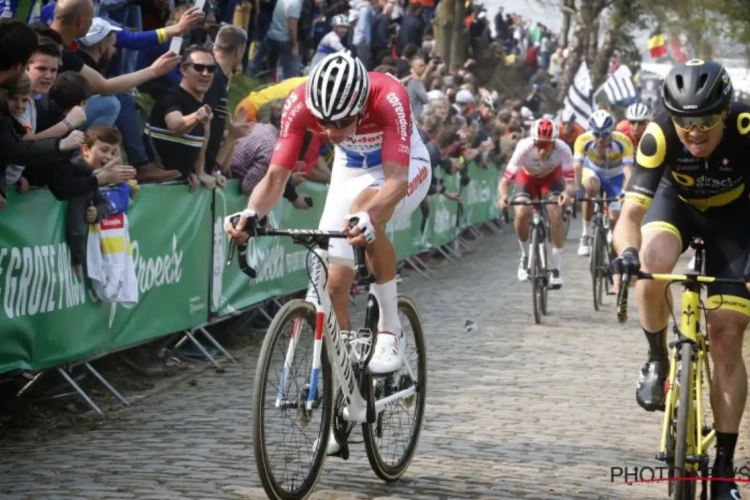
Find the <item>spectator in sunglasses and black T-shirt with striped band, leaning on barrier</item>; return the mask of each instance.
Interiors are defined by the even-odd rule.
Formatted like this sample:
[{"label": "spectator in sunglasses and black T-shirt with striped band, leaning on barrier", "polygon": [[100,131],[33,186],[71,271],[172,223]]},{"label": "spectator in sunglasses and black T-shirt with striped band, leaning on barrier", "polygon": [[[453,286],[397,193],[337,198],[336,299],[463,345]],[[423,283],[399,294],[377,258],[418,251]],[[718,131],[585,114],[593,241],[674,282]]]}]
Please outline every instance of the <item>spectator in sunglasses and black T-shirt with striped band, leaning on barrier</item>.
[{"label": "spectator in sunglasses and black T-shirt with striped band, leaning on barrier", "polygon": [[191,191],[199,183],[216,187],[217,180],[204,168],[213,112],[203,104],[216,68],[210,51],[198,46],[188,48],[180,85],[156,101],[144,132],[151,160],[159,161],[166,170],[178,170]]}]

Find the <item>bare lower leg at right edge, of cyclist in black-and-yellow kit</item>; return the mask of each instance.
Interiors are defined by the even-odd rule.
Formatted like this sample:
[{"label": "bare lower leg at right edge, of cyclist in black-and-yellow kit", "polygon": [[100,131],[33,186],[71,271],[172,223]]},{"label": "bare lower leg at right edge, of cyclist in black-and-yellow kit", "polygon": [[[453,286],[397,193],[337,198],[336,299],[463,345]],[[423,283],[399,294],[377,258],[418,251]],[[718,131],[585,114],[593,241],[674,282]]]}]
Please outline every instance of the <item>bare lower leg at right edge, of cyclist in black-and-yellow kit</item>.
[{"label": "bare lower leg at right edge, of cyclist in black-and-yellow kit", "polygon": [[746,315],[717,309],[708,312],[713,386],[711,407],[718,432],[736,434],[747,400],[747,372],[742,359],[742,339],[748,325]]}]

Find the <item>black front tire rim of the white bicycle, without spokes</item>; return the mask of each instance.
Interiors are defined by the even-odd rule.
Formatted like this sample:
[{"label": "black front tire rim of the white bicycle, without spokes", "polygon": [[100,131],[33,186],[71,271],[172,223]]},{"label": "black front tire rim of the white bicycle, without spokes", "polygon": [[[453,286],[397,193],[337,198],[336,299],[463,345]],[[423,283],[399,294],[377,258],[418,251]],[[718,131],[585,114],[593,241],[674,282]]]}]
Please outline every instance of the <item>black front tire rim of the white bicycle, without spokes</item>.
[{"label": "black front tire rim of the white bicycle, without spokes", "polygon": [[[258,477],[263,485],[263,489],[269,498],[274,500],[302,500],[307,498],[315,488],[323,470],[326,460],[326,451],[328,439],[331,433],[331,424],[333,420],[333,372],[331,362],[323,343],[321,352],[321,388],[323,389],[323,400],[321,403],[321,429],[318,433],[318,443],[325,443],[324,446],[318,446],[314,453],[310,470],[305,479],[294,490],[286,490],[276,480],[271,471],[271,464],[268,462],[268,450],[266,449],[265,439],[265,408],[263,401],[266,395],[266,385],[268,382],[268,372],[271,368],[274,348],[284,334],[284,329],[290,321],[301,318],[309,322],[315,331],[315,306],[310,302],[301,299],[291,300],[284,304],[274,316],[271,325],[268,327],[266,338],[263,340],[263,347],[260,350],[258,358],[258,367],[255,372],[255,387],[253,391],[253,452],[255,454],[255,464],[258,469]],[[297,452],[299,455],[299,450]]]}]

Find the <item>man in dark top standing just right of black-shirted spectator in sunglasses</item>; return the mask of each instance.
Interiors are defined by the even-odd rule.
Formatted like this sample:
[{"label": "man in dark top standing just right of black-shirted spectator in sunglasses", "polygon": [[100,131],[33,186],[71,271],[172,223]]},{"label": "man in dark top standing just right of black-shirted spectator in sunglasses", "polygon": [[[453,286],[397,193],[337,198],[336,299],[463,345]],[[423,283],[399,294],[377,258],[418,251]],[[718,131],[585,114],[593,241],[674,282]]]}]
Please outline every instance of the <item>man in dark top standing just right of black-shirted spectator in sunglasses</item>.
[{"label": "man in dark top standing just right of black-shirted spectator in sunglasses", "polygon": [[211,87],[206,92],[203,104],[213,111],[211,130],[206,147],[205,173],[214,171],[229,172],[232,150],[235,142],[248,131],[245,116],[238,117],[230,123],[230,131],[224,137],[227,124],[227,106],[229,98],[229,84],[232,75],[242,67],[242,56],[247,45],[247,34],[236,26],[223,26],[216,35],[213,46],[213,56],[218,65],[214,72]]}]

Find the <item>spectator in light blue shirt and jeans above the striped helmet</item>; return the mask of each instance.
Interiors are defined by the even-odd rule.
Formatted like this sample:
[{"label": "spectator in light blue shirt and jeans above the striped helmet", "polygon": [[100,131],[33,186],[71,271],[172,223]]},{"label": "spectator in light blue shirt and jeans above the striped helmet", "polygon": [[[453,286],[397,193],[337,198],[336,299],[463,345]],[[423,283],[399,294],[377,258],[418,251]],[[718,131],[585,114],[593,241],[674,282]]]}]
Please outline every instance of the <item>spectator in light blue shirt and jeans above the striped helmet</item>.
[{"label": "spectator in light blue shirt and jeans above the striped helmet", "polygon": [[276,0],[271,26],[265,45],[271,67],[280,69],[276,81],[281,82],[300,74],[300,46],[298,23],[302,13],[302,0]]}]

